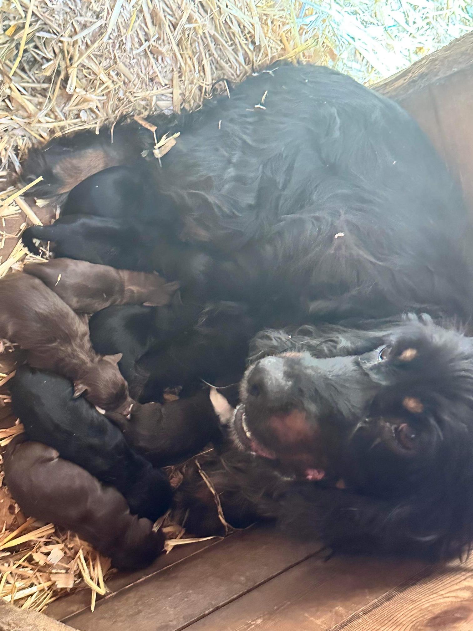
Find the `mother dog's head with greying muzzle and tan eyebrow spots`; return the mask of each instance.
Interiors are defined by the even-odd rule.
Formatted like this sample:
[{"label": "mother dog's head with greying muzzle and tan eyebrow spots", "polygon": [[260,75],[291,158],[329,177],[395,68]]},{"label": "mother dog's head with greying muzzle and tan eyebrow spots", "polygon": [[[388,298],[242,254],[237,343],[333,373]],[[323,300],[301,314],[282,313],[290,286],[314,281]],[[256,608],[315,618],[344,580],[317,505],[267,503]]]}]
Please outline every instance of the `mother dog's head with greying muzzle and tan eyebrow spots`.
[{"label": "mother dog's head with greying muzzle and tan eyebrow spots", "polygon": [[237,444],[286,478],[353,498],[355,511],[356,497],[380,502],[386,522],[435,554],[470,546],[472,341],[428,317],[310,333],[255,339]]}]

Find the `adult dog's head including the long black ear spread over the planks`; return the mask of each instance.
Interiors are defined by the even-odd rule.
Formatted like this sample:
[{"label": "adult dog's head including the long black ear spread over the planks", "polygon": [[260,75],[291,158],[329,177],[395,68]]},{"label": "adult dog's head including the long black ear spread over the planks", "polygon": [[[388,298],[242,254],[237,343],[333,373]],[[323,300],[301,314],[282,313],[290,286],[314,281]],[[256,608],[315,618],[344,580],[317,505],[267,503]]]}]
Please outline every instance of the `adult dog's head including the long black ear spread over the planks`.
[{"label": "adult dog's head including the long black ear spread over the planks", "polygon": [[[201,461],[233,525],[271,517],[335,550],[469,550],[472,340],[428,317],[385,324],[255,338],[233,420],[242,453]],[[190,466],[177,516],[192,507],[188,527],[219,532],[201,482]]]}]

